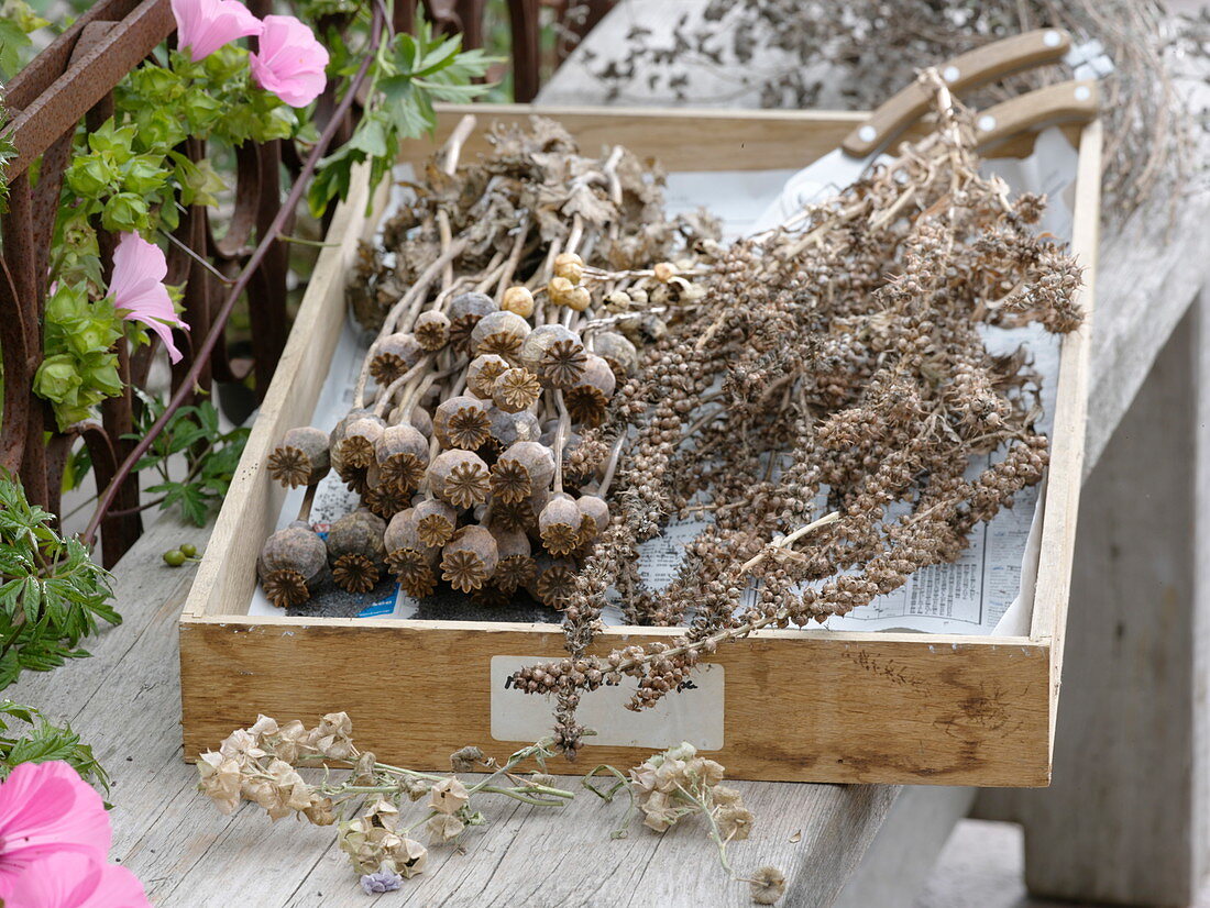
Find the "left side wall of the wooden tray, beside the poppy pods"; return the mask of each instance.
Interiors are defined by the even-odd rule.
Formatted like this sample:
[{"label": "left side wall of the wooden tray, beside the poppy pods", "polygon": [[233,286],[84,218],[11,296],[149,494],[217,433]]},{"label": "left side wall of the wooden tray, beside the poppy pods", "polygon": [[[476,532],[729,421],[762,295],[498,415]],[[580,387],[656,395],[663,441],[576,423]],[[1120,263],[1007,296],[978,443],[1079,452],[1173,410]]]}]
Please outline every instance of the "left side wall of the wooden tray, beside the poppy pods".
[{"label": "left side wall of the wooden tray, beside the poppy pods", "polygon": [[353,172],[348,199],[333,216],[328,241],[339,245],[327,247],[316,262],[198,566],[186,614],[248,609],[257,583],[257,555],[277,525],[286,497],[286,491],[270,481],[265,462],[287,429],[310,422],[327,380],[345,318],[345,274],[357,254],[357,241],[368,238],[376,225],[365,216],[368,175],[367,167]]}]

